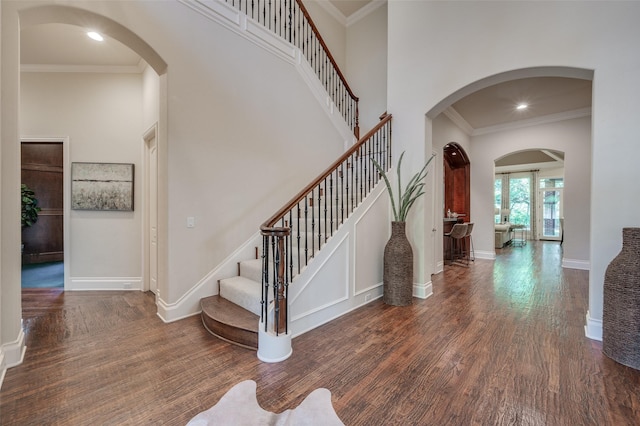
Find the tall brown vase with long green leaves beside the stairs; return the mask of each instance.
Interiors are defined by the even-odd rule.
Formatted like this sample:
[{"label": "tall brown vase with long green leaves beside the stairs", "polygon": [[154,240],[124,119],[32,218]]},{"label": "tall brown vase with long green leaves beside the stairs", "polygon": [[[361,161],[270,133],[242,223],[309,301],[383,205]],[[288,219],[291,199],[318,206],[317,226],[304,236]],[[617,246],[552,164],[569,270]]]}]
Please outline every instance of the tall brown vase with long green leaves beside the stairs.
[{"label": "tall brown vase with long green leaves beside the stairs", "polygon": [[431,156],[422,169],[413,175],[402,190],[401,167],[404,152],[400,154],[396,168],[398,180],[398,200],[396,200],[391,182],[380,164],[373,160],[373,164],[384,179],[391,200],[393,221],[391,222],[391,238],[384,248],[383,297],[388,305],[407,306],[413,302],[413,249],[405,232],[406,220],[411,207],[424,194],[424,179],[427,177],[427,167],[433,160]]}]

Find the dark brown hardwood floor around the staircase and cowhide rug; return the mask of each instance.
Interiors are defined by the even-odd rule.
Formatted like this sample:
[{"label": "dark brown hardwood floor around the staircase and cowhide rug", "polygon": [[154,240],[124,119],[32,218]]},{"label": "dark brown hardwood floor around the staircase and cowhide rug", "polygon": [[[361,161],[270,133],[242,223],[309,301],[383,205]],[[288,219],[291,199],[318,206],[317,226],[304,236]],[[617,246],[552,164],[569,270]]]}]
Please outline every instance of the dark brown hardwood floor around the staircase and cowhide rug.
[{"label": "dark brown hardwood floor around the staircase and cowhide rug", "polygon": [[588,273],[558,243],[447,266],[433,296],[375,301],[293,340],[266,364],[164,324],[137,292],[24,290],[24,363],[0,391],[2,425],[184,425],[234,384],[281,412],[325,387],[346,425],[638,425],[640,371],[584,336]]}]

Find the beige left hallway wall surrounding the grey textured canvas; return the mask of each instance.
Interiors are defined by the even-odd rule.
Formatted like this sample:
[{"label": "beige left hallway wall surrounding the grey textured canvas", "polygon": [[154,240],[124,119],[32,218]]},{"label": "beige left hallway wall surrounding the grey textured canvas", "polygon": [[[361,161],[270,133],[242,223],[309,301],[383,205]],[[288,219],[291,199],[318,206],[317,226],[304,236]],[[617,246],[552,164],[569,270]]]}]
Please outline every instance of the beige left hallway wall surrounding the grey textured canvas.
[{"label": "beige left hallway wall surrounding the grey textured canvas", "polygon": [[65,250],[67,288],[83,288],[87,279],[109,288],[121,278],[135,287],[142,264],[141,75],[26,72],[20,101],[21,135],[68,137],[70,162],[134,164],[134,211],[71,210]]}]

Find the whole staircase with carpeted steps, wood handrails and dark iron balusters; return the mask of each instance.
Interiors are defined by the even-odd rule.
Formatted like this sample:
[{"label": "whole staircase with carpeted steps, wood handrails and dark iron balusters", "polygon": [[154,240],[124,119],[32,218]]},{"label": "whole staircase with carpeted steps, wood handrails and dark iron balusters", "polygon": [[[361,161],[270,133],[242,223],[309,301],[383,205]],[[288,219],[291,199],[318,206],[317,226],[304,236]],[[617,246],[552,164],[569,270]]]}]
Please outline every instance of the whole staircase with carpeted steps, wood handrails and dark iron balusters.
[{"label": "whole staircase with carpeted steps, wood handrails and dark iron balusters", "polygon": [[[359,138],[358,98],[302,0],[220,1],[299,49],[332,104]],[[200,0],[187,3],[197,3],[197,8],[204,4]],[[216,2],[207,4],[213,6]],[[237,276],[219,280],[218,294],[200,301],[202,322],[211,334],[250,349],[258,349],[259,336],[265,341],[272,337],[291,338],[287,328],[289,285],[380,179],[371,159],[390,165],[390,119],[386,114],[381,117],[376,128],[261,226],[263,244],[256,248],[255,258],[239,262]],[[259,324],[264,329],[259,330]],[[265,337],[267,333],[272,336]],[[259,358],[260,355],[258,351]]]}]

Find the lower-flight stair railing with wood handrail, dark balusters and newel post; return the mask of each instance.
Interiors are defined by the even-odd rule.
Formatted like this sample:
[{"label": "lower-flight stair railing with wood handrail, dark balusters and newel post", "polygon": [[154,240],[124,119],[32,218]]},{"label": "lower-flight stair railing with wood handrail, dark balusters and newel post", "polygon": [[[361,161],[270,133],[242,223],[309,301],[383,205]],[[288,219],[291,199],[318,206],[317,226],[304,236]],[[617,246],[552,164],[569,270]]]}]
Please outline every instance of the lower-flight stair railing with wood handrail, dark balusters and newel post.
[{"label": "lower-flight stair railing with wood handrail, dark balusters and newel post", "polygon": [[391,166],[391,115],[345,152],[261,227],[265,331],[288,332],[288,288]]}]

